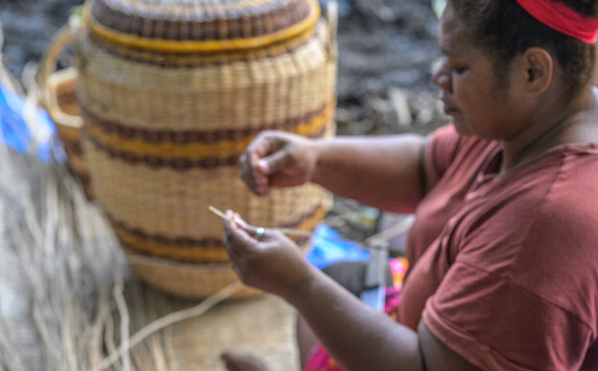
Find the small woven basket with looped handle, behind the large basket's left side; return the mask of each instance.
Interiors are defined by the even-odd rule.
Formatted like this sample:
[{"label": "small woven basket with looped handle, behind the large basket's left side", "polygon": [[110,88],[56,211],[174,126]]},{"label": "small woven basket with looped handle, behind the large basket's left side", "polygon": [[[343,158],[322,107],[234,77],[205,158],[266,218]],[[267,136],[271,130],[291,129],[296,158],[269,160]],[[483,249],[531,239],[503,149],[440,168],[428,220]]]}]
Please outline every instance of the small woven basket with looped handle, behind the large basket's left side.
[{"label": "small woven basket with looped handle, behind the large basket's left side", "polygon": [[38,74],[40,103],[54,121],[56,131],[65,149],[69,167],[83,185],[88,199],[93,198],[89,171],[81,148],[83,118],[77,104],[75,88],[77,69],[69,67],[56,71],[56,59],[72,41],[71,26],[64,26],[54,35],[51,47],[45,53]]}]

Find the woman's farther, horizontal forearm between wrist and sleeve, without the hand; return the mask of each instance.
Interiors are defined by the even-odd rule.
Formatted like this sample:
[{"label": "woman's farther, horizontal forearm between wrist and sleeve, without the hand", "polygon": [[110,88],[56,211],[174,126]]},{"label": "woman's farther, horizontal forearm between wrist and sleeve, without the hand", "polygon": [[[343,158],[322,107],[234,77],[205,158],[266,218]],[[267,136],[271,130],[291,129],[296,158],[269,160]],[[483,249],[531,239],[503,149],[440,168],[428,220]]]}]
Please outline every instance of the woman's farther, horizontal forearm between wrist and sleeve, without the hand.
[{"label": "woman's farther, horizontal forearm between wrist and sleeve, without the hand", "polygon": [[343,197],[394,212],[413,212],[425,194],[418,135],[338,137],[316,142],[312,181]]}]

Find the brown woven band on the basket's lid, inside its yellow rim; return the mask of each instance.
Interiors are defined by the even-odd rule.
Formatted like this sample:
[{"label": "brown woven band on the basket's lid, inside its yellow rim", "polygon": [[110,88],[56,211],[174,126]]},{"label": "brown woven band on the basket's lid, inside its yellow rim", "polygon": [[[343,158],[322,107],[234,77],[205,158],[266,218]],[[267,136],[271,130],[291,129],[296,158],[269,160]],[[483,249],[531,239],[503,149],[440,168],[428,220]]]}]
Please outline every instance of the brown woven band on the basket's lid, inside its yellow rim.
[{"label": "brown woven band on the basket's lid, inside its yellow rim", "polygon": [[199,11],[193,13],[191,10],[194,8],[190,8],[190,11],[184,14],[185,19],[173,19],[172,14],[167,14],[167,6],[162,14],[144,12],[141,9],[121,11],[107,5],[105,0],[96,0],[91,7],[91,16],[101,25],[123,34],[165,40],[207,41],[274,34],[300,23],[309,17],[312,11],[307,1],[270,3],[282,4],[268,4],[263,13],[259,13],[258,7],[241,9],[237,14],[231,14],[224,9],[223,14],[206,14]]}]

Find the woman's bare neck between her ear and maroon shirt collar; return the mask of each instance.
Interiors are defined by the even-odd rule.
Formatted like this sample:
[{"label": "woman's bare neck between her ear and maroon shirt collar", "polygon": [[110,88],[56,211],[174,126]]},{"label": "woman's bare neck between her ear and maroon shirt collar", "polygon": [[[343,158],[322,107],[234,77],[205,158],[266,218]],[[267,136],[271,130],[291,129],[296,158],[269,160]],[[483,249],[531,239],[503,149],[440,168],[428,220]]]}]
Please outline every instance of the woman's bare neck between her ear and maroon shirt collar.
[{"label": "woman's bare neck between her ear and maroon shirt collar", "polygon": [[[587,123],[581,112],[596,111],[598,98],[592,89],[570,104],[543,102],[523,121],[524,129],[504,141],[502,171],[544,153],[556,145],[587,140],[575,135],[576,127]],[[543,108],[543,109],[542,109]],[[596,116],[594,116],[596,117]]]}]

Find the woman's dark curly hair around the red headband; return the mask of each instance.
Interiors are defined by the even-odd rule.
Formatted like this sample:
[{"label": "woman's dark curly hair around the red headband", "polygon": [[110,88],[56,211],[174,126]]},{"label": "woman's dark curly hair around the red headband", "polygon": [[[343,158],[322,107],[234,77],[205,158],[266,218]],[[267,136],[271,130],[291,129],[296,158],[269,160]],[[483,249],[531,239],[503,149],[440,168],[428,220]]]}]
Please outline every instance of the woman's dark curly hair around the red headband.
[{"label": "woman's dark curly hair around the red headband", "polygon": [[[549,1],[549,0],[547,0]],[[561,2],[584,17],[598,17],[598,0],[550,0]],[[463,20],[471,42],[486,50],[495,62],[498,77],[510,62],[530,47],[548,51],[565,73],[565,99],[570,101],[593,81],[597,46],[562,34],[529,15],[515,0],[450,0]]]}]

